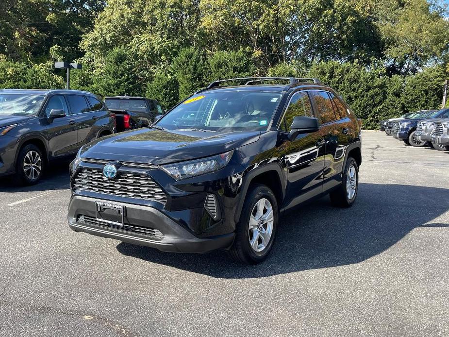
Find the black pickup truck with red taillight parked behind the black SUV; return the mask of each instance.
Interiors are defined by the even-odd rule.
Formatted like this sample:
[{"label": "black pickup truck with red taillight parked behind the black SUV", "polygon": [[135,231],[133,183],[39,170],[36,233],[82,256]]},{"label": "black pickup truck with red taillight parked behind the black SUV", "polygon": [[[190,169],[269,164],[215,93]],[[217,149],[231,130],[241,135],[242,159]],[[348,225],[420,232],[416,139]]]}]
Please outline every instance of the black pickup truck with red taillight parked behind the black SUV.
[{"label": "black pickup truck with red taillight parked behind the black SUV", "polygon": [[164,115],[158,101],[143,97],[106,97],[104,103],[116,114],[117,132],[150,126],[157,116]]}]

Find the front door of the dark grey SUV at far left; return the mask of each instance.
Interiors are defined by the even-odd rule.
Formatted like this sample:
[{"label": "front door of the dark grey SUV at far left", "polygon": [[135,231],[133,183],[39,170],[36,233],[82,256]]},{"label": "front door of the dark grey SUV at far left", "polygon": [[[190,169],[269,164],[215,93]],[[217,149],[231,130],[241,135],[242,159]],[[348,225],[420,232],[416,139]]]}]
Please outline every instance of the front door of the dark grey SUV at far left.
[{"label": "front door of the dark grey SUV at far left", "polygon": [[[49,118],[52,109],[64,110],[66,117]],[[50,157],[63,157],[78,151],[76,118],[69,113],[64,95],[51,96],[41,118],[46,123]]]}]

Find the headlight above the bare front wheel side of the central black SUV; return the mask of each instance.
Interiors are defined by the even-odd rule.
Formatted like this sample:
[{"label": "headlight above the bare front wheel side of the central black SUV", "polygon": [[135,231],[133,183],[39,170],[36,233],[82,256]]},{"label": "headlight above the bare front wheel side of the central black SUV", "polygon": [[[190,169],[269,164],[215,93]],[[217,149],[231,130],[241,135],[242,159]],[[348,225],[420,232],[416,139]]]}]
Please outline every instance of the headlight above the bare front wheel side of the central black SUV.
[{"label": "headlight above the bare front wheel side of the central black SUV", "polygon": [[194,177],[200,174],[214,172],[228,165],[234,150],[217,154],[212,157],[191,160],[182,163],[164,165],[160,168],[176,180]]}]

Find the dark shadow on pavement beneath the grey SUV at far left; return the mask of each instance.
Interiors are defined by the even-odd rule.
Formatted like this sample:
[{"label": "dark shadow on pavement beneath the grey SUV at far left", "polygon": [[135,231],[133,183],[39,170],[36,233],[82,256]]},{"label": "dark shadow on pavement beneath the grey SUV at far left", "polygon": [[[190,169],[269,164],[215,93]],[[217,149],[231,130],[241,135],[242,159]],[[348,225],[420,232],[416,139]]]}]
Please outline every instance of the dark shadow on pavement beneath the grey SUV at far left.
[{"label": "dark shadow on pavement beneath the grey SUV at far left", "polygon": [[17,186],[12,176],[1,177],[0,192],[45,192],[68,188],[70,183],[68,165],[68,161],[51,163],[42,179],[36,185],[31,186]]}]

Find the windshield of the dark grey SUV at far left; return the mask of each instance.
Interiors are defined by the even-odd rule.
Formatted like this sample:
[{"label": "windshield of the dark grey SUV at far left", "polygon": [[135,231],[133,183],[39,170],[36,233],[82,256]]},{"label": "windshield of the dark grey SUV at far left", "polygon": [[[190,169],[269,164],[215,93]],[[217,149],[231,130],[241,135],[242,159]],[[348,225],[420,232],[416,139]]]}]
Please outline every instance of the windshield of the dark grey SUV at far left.
[{"label": "windshield of the dark grey SUV at far left", "polygon": [[44,95],[0,94],[0,116],[36,115],[44,98]]}]

